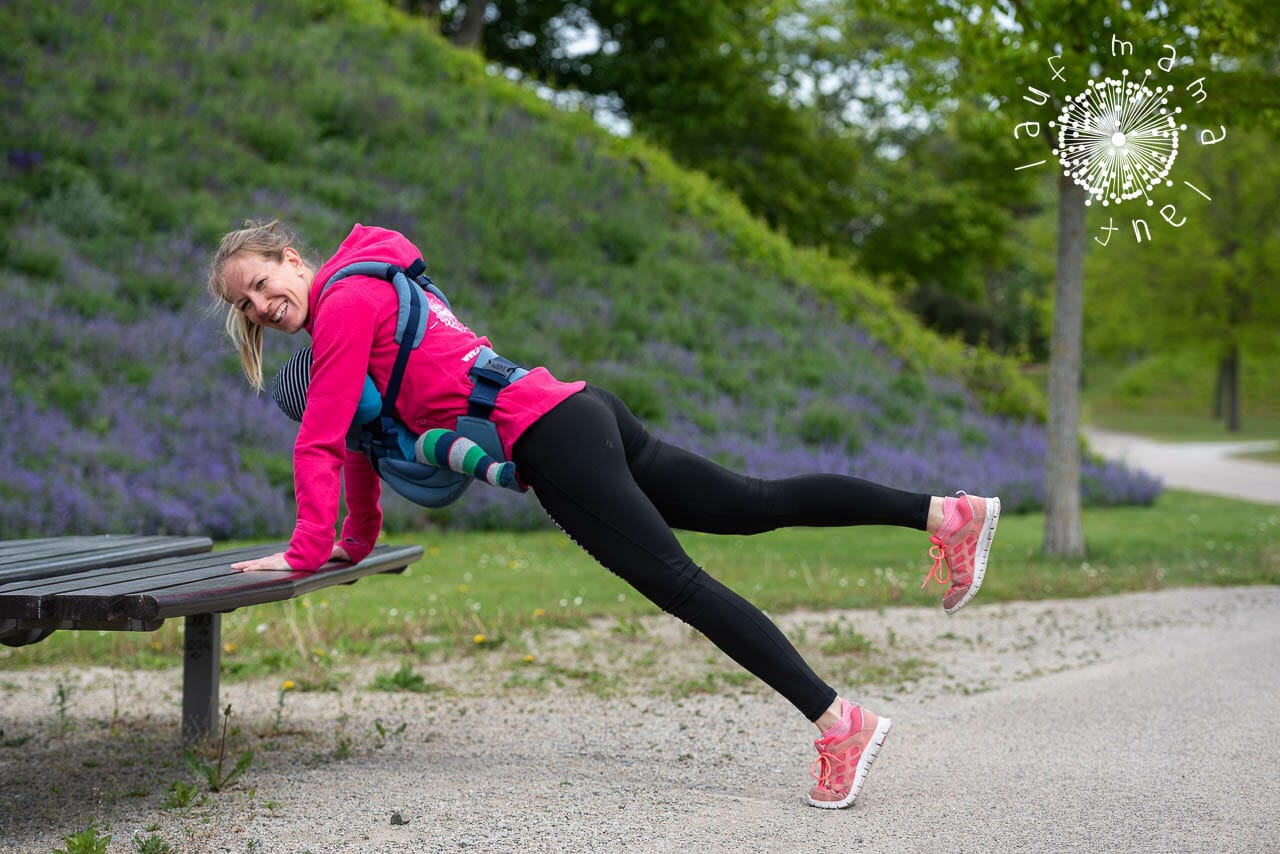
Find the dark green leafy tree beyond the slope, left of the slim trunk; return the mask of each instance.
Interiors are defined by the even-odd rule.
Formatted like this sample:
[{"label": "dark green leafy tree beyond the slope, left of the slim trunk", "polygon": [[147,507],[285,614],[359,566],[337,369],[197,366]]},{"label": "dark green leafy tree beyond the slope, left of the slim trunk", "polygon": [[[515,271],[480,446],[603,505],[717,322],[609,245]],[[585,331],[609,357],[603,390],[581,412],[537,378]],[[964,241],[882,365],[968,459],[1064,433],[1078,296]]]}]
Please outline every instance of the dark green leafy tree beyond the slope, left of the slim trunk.
[{"label": "dark green leafy tree beyond the slope, left of the slim trunk", "polygon": [[1009,169],[1016,146],[993,118],[961,104],[927,132],[882,132],[896,150],[865,161],[851,239],[859,266],[893,284],[928,326],[997,352],[1041,353],[1030,297],[1042,286],[1015,242],[1016,222],[1041,205],[1034,183]]}]

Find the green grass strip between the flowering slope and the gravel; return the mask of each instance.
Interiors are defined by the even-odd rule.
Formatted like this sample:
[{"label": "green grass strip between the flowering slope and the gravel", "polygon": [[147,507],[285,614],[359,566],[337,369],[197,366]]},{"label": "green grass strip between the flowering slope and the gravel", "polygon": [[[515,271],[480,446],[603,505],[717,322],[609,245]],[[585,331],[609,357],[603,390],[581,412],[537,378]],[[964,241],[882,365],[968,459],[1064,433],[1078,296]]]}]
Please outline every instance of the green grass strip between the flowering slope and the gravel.
[{"label": "green grass strip between the flowering slope and the gravel", "polygon": [[[1041,515],[1004,517],[980,602],[1280,584],[1280,507],[1170,492],[1153,507],[1085,511],[1084,517],[1089,554],[1083,561],[1039,553]],[[915,531],[791,529],[681,539],[695,561],[768,611],[937,607],[937,590],[919,590],[928,558],[927,542]],[[227,615],[224,675],[276,673],[303,688],[325,686],[326,675],[366,654],[420,661],[522,654],[526,630],[657,613],[559,533],[433,533],[392,542],[421,543],[426,556],[399,576]],[[173,667],[179,625],[169,621],[150,635],[60,631],[40,644],[0,650],[0,661],[5,667]]]}]

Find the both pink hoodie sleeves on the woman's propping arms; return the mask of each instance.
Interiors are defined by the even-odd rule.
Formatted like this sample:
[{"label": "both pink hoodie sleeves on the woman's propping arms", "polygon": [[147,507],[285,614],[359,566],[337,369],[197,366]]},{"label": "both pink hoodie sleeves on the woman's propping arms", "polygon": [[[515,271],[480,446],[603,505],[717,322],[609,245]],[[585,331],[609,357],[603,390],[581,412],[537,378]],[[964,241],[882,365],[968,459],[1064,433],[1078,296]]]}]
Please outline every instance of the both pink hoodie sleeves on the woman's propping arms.
[{"label": "both pink hoodie sleeves on the woman's propping arms", "polygon": [[[342,284],[347,282],[355,287],[335,287],[325,294],[324,311],[317,312],[311,328],[311,385],[293,446],[298,520],[284,558],[294,570],[306,572],[319,570],[333,553],[343,466],[348,463],[347,429],[365,387],[378,325],[375,306],[361,279],[352,277]],[[347,502],[355,519],[344,529],[344,536],[352,536],[344,547],[356,552],[352,558],[362,545],[367,548],[361,558],[372,549],[381,524],[376,478],[367,461],[364,466],[367,471],[361,471],[358,461],[347,465]]]}]

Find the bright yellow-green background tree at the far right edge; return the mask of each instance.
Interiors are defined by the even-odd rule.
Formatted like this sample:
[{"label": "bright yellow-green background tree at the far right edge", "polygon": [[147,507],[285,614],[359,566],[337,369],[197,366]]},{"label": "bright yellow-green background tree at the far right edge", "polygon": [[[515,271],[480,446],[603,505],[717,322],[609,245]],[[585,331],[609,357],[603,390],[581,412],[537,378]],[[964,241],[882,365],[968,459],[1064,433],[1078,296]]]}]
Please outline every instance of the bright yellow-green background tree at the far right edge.
[{"label": "bright yellow-green background tree at the far right edge", "polygon": [[1258,131],[1233,131],[1230,140],[1179,155],[1181,174],[1212,201],[1180,187],[1172,202],[1183,211],[1175,222],[1185,218],[1181,227],[1096,256],[1088,287],[1096,310],[1085,343],[1112,361],[1206,352],[1216,360],[1217,383],[1201,399],[1238,431],[1244,359],[1274,351],[1280,329],[1280,143]]}]

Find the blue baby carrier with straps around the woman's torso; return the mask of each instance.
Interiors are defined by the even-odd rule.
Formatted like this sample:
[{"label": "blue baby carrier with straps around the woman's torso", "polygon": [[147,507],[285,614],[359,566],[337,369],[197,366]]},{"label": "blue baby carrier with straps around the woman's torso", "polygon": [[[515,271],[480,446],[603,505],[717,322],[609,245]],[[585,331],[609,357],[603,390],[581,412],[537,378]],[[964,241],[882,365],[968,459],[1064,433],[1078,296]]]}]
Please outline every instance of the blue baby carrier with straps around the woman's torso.
[{"label": "blue baby carrier with straps around the woman's torso", "polygon": [[[347,447],[367,456],[378,476],[415,504],[422,507],[451,504],[462,497],[474,478],[415,458],[415,437],[396,417],[396,398],[404,378],[408,356],[426,335],[430,319],[426,293],[435,296],[451,311],[453,309],[444,293],[426,275],[426,265],[421,259],[408,269],[381,261],[349,264],[329,277],[321,286],[321,293],[334,282],[349,275],[383,279],[396,288],[399,300],[396,343],[399,344],[399,351],[387,382],[385,394],[379,396],[372,380],[365,378],[365,391],[356,410],[356,419],[347,433]],[[300,366],[305,367],[305,371],[300,370]],[[497,461],[506,461],[507,457],[498,438],[498,429],[489,416],[493,414],[499,392],[527,373],[493,350],[483,347],[467,374],[472,382],[471,394],[467,397],[467,414],[458,416],[454,429]],[[310,382],[310,351],[303,350],[294,353],[280,369],[271,387],[276,405],[297,421],[302,420],[302,408],[306,406],[306,388],[300,389],[298,384],[301,380]]]}]

